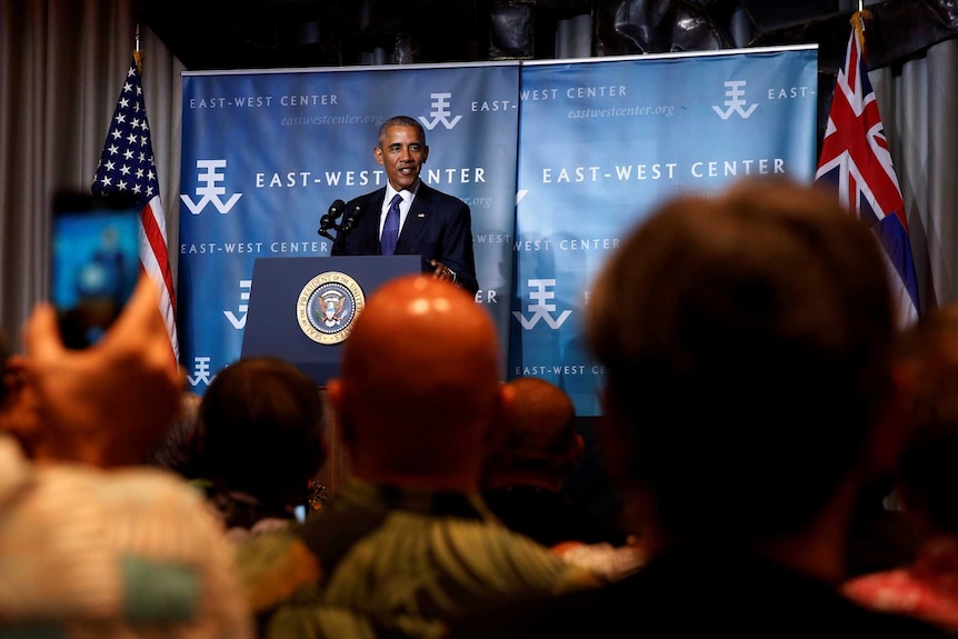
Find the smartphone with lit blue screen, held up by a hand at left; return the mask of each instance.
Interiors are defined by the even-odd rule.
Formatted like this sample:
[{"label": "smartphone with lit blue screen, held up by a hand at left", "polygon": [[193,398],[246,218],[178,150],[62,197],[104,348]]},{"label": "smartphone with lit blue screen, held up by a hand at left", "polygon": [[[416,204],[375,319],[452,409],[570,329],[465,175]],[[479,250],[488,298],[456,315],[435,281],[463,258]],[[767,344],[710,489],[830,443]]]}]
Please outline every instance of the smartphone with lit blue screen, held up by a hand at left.
[{"label": "smartphone with lit blue screen, held up by a hand at left", "polygon": [[68,348],[97,343],[122,312],[140,273],[139,232],[132,197],[54,196],[50,300]]}]

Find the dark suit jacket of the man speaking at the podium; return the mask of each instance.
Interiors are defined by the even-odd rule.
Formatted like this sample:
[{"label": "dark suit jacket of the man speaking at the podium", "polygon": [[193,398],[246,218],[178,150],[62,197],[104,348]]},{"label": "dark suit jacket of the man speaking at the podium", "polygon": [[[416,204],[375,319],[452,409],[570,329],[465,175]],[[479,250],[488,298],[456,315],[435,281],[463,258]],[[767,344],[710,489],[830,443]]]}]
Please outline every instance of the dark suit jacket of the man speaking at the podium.
[{"label": "dark suit jacket of the man speaking at the podium", "polygon": [[[337,233],[333,256],[378,256],[379,214],[386,187],[359,196],[346,204],[345,222],[359,207],[359,217],[349,232]],[[428,262],[438,260],[456,272],[456,281],[470,293],[479,290],[476,258],[472,253],[472,216],[458,199],[420,182],[412,207],[402,224],[397,254],[419,254]],[[431,267],[430,267],[431,272]]]}]

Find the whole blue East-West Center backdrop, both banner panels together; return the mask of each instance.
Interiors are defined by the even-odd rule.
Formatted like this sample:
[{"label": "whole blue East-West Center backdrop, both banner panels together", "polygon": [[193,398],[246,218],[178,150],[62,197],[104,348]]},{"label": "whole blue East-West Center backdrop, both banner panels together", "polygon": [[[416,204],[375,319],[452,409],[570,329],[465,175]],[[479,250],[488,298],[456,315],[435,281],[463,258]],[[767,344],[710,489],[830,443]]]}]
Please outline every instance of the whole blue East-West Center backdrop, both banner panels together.
[{"label": "whole blue East-West Center backdrop, both banner panels together", "polygon": [[[239,358],[253,260],[328,256],[335,199],[382,186],[379,124],[419,118],[423,179],[472,209],[503,379],[555,381],[599,413],[580,337],[589,282],[678,189],[746,174],[811,180],[817,48],[565,62],[183,77],[179,328],[193,390]],[[277,309],[292,312],[292,309]]]}]

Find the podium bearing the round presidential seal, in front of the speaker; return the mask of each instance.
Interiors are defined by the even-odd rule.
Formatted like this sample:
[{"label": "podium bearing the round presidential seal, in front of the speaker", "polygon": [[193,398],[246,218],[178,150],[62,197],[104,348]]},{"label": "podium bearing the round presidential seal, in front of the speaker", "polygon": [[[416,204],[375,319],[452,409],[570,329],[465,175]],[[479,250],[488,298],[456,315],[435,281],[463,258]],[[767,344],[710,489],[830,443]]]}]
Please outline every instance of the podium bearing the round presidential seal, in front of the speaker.
[{"label": "podium bearing the round presidential seal, in front of the speaker", "polygon": [[401,274],[422,272],[420,256],[257,258],[253,262],[241,357],[289,361],[316,382],[326,406],[329,455],[318,480],[331,496],[349,476],[339,421],[326,401],[326,382],[352,322],[377,288]]}]

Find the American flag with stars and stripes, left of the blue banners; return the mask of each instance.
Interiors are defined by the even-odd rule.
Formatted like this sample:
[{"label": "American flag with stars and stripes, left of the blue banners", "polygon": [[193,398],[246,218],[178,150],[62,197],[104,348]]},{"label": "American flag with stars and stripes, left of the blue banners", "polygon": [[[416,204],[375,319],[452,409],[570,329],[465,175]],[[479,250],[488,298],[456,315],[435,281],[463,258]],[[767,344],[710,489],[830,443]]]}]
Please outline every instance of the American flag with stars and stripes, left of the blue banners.
[{"label": "American flag with stars and stripes, left of the blue banners", "polygon": [[132,193],[140,211],[140,262],[160,289],[160,312],[170,335],[173,359],[179,360],[176,294],[167,252],[167,220],[160,201],[160,182],[153,161],[150,124],[143,101],[141,56],[133,52],[127,79],[120,90],[110,122],[100,166],[93,178],[93,194]]}]

